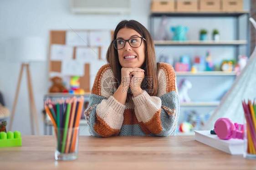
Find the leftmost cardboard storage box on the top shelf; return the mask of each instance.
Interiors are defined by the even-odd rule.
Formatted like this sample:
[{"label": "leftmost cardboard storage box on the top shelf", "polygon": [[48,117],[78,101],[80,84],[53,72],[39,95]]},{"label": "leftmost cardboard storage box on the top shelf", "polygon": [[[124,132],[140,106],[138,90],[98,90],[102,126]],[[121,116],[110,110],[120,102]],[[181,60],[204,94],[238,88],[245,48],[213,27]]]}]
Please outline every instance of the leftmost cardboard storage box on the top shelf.
[{"label": "leftmost cardboard storage box on the top shelf", "polygon": [[174,12],[174,0],[152,0],[151,12]]}]

